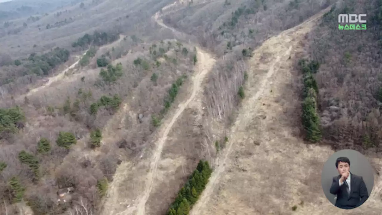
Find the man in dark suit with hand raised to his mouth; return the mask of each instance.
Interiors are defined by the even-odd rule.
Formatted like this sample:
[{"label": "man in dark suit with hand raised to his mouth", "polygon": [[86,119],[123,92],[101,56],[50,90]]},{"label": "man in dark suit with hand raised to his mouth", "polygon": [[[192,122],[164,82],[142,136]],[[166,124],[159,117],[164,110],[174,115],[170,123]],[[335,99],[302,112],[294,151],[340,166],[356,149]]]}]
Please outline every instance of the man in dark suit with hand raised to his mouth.
[{"label": "man in dark suit with hand raised to his mouth", "polygon": [[369,197],[362,176],[350,173],[350,160],[339,157],[335,162],[339,175],[333,177],[330,193],[337,195],[335,206],[352,209],[362,205]]}]

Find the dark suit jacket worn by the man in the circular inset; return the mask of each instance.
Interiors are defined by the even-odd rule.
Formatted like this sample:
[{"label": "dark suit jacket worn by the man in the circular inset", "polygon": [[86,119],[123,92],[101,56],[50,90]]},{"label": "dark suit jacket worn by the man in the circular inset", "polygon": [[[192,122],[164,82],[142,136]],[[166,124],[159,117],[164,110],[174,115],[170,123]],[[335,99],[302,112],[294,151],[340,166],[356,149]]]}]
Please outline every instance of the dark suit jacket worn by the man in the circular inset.
[{"label": "dark suit jacket worn by the man in the circular inset", "polygon": [[335,206],[342,209],[352,209],[362,205],[369,194],[367,193],[366,184],[363,181],[362,176],[357,176],[350,173],[350,194],[346,191],[346,186],[338,184],[341,175],[333,177],[332,186],[330,187],[330,193],[337,195],[337,201]]}]

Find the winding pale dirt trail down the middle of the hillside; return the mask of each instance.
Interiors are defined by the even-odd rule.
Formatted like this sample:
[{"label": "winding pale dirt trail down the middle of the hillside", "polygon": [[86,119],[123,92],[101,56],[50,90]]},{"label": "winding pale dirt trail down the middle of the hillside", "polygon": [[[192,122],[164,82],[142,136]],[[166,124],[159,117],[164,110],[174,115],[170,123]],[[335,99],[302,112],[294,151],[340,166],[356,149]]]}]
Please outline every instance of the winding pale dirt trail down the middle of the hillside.
[{"label": "winding pale dirt trail down the middle of the hillside", "polygon": [[[171,6],[171,5],[170,5]],[[170,7],[168,6],[168,7]],[[152,19],[157,22],[160,26],[163,28],[170,29],[178,38],[185,38],[186,34],[181,33],[179,31],[176,31],[176,29],[170,28],[163,24],[163,21],[160,19],[159,12],[156,13]],[[115,214],[115,215],[128,215],[128,214],[136,214],[136,215],[146,215],[146,203],[147,200],[150,197],[150,194],[152,192],[152,189],[155,184],[155,177],[157,174],[157,168],[160,162],[160,158],[162,155],[163,147],[165,146],[168,133],[172,129],[175,122],[178,120],[178,118],[181,116],[183,111],[187,108],[187,106],[196,99],[199,92],[202,90],[201,85],[208,74],[208,72],[212,69],[213,65],[215,64],[214,58],[205,52],[202,49],[197,48],[197,67],[195,69],[195,73],[193,77],[191,78],[192,81],[192,91],[189,98],[180,103],[178,105],[178,109],[176,109],[175,114],[172,116],[171,120],[165,121],[162,126],[161,130],[159,131],[160,138],[155,143],[156,148],[153,152],[152,157],[149,161],[141,161],[141,166],[133,166],[131,162],[123,162],[121,166],[118,167],[117,172],[115,173],[113,177],[113,182],[110,184],[108,196],[105,202],[104,206],[104,212],[103,214]],[[128,201],[131,202],[131,204],[127,205],[127,209],[120,211],[121,208],[120,205],[125,204],[124,201],[121,201],[120,198],[124,198],[122,191],[120,191],[119,187],[123,187],[122,183],[126,182],[126,179],[131,175],[131,172],[138,171],[136,169],[142,168],[144,166],[148,165],[149,169],[146,173],[146,181],[144,183],[144,187],[142,187],[142,192],[139,192],[138,198]],[[125,200],[126,202],[126,200]],[[117,213],[115,213],[117,212]]]}]

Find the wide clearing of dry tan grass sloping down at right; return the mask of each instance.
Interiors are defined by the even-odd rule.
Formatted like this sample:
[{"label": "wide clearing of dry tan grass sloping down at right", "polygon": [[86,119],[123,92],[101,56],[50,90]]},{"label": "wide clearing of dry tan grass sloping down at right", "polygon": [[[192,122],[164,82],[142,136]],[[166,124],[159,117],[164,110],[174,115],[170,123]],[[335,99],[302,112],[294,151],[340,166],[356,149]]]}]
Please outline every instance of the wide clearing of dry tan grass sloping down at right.
[{"label": "wide clearing of dry tan grass sloping down at right", "polygon": [[[247,98],[231,130],[230,145],[190,214],[345,214],[330,204],[320,186],[320,170],[334,151],[306,145],[298,118],[293,118],[300,106],[299,94],[290,85],[300,78],[293,72],[293,59],[304,55],[300,41],[316,22],[284,31],[254,51]],[[262,60],[264,54],[272,60]],[[380,181],[376,177],[375,184]],[[378,196],[374,190],[351,213],[379,213]],[[301,201],[303,206],[293,212],[291,207]]]}]

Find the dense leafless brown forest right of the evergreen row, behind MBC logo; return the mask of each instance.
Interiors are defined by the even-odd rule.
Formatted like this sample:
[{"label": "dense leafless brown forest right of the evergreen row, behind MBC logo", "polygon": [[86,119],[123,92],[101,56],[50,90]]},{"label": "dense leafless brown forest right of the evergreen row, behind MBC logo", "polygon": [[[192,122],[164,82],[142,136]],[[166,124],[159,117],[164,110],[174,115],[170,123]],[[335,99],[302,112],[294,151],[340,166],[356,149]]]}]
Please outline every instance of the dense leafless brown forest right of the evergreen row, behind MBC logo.
[{"label": "dense leafless brown forest right of the evergreen row, behind MBC logo", "polygon": [[[367,30],[338,30],[342,13],[366,13]],[[381,14],[379,0],[345,1],[309,33],[310,57],[320,64],[313,76],[323,142],[338,149],[380,151],[382,146]]]}]

